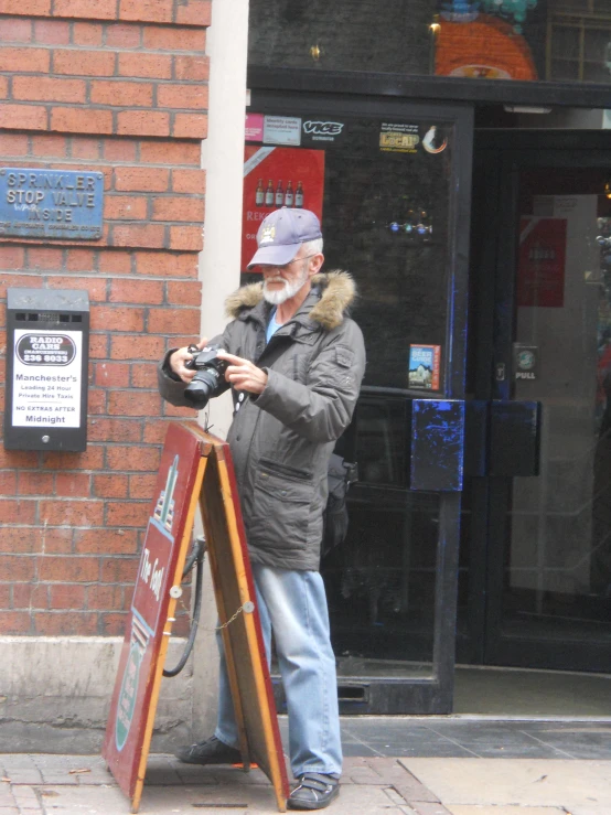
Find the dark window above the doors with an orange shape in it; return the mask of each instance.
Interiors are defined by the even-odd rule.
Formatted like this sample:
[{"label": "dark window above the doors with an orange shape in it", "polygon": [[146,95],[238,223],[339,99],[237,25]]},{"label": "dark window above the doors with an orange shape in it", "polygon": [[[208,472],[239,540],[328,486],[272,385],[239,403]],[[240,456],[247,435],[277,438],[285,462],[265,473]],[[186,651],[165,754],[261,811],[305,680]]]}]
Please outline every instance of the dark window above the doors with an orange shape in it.
[{"label": "dark window above the doors with an orange shape in it", "polygon": [[250,0],[249,63],[611,83],[608,0]]}]

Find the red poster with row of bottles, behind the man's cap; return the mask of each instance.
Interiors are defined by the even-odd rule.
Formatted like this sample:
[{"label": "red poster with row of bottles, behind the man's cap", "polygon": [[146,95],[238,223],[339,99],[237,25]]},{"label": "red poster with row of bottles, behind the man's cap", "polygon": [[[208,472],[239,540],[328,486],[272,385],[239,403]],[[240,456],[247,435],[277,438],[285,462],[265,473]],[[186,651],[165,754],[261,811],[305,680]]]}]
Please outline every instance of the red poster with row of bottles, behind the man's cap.
[{"label": "red poster with row of bottles, behind the man's cap", "polygon": [[324,151],[292,147],[245,148],[242,270],[257,250],[265,216],[281,206],[302,206],[322,221]]}]

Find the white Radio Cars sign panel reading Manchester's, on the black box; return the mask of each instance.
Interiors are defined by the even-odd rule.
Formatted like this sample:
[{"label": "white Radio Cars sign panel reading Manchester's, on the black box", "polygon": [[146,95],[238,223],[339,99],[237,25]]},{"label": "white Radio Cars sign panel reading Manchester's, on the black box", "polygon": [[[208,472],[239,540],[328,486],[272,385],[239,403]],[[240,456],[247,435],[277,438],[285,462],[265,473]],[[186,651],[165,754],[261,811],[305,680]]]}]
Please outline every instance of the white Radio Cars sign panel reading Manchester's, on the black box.
[{"label": "white Radio Cars sign panel reading Manchester's, on the black box", "polygon": [[81,331],[14,332],[13,427],[81,427]]}]

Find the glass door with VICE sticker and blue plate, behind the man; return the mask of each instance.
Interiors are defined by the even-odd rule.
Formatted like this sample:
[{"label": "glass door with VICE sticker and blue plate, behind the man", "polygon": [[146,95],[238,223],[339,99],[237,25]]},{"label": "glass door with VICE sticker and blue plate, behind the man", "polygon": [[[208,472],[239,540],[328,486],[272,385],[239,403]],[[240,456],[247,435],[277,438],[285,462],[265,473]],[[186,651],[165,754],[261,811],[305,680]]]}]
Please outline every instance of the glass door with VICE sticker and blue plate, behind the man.
[{"label": "glass door with VICE sticker and blue plate, behind the man", "polygon": [[[276,194],[321,215],[346,269],[367,369],[337,453],[356,461],[345,539],[324,554],[346,712],[452,704],[472,115],[251,88],[245,239]],[[248,122],[247,122],[248,125]],[[274,194],[276,193],[276,194]],[[258,197],[257,197],[258,194]],[[291,204],[296,204],[291,199]],[[248,277],[245,275],[245,277]]]}]

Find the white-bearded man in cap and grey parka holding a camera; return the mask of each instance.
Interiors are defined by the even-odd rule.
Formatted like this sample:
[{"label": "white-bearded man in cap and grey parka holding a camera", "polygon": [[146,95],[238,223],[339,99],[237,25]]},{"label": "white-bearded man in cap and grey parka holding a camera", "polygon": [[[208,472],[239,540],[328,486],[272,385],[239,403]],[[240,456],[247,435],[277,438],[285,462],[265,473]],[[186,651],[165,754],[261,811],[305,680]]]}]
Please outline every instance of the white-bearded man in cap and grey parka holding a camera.
[{"label": "white-bearded man in cap and grey parka holding a camera", "polygon": [[[321,809],[339,794],[342,770],[335,658],[324,585],[319,573],[326,473],[336,439],[350,423],[365,367],[358,326],[346,315],[354,283],[345,272],[320,274],[322,234],[314,213],[283,207],[257,233],[262,283],[227,300],[233,318],[218,344],[228,364],[234,420],[229,442],[269,657],[271,633],[287,698],[292,809]],[[206,341],[202,340],[202,348]],[[194,375],[186,347],[159,366],[162,396],[190,405]],[[240,760],[221,647],[214,736],[181,748],[194,764]]]}]

